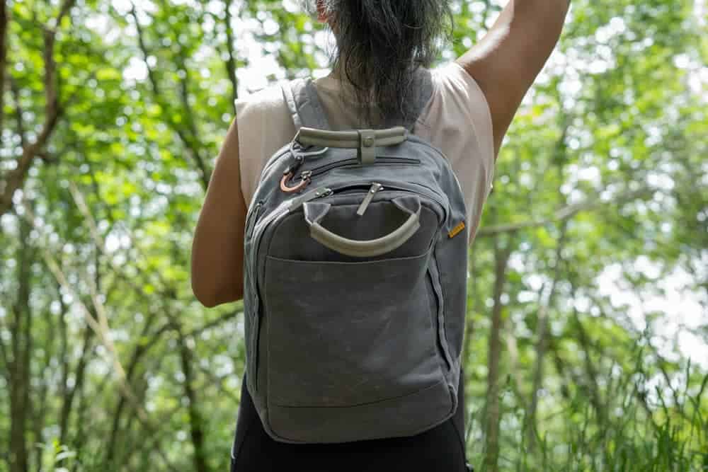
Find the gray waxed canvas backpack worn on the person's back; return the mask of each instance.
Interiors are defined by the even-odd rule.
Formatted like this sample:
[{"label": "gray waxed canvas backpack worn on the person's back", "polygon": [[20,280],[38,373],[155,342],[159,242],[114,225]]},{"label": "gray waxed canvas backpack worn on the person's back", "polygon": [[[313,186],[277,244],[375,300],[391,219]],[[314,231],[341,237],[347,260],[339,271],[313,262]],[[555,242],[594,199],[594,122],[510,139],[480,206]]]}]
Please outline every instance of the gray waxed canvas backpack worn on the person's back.
[{"label": "gray waxed canvas backpack worn on the person's back", "polygon": [[[420,112],[430,74],[418,74]],[[404,126],[333,132],[286,82],[295,138],[246,217],[246,387],[290,443],[418,434],[457,409],[467,227],[440,150]],[[416,115],[417,116],[417,115]]]}]

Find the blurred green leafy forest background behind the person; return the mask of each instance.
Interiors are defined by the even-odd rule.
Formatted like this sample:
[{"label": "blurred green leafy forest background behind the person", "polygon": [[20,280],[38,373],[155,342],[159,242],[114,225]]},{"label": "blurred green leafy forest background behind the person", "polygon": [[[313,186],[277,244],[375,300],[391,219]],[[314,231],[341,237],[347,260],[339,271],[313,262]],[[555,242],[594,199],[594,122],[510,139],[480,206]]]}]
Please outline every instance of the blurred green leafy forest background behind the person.
[{"label": "blurred green leafy forest background behind the person", "polygon": [[[453,1],[439,64],[504,3]],[[0,471],[227,470],[243,315],[190,244],[234,99],[328,72],[302,11],[0,0]],[[470,255],[476,470],[708,471],[707,20],[573,1]]]}]

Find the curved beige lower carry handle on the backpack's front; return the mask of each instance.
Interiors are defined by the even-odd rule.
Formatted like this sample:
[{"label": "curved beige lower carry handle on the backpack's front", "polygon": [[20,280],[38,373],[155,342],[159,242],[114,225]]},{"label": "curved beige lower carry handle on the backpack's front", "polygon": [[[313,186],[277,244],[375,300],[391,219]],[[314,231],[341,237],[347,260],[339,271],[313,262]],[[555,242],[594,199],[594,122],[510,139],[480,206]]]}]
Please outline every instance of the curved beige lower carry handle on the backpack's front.
[{"label": "curved beige lower carry handle on the backpack's front", "polygon": [[392,203],[410,216],[406,219],[404,224],[401,224],[401,226],[391,233],[369,241],[355,241],[354,239],[345,238],[321,226],[319,222],[326,216],[331,208],[331,204],[329,203],[304,203],[304,217],[310,227],[310,236],[312,236],[315,241],[343,255],[368,258],[389,253],[399,248],[406,243],[413,234],[416,234],[418,228],[421,227],[421,200],[418,197],[399,197],[392,200]]}]

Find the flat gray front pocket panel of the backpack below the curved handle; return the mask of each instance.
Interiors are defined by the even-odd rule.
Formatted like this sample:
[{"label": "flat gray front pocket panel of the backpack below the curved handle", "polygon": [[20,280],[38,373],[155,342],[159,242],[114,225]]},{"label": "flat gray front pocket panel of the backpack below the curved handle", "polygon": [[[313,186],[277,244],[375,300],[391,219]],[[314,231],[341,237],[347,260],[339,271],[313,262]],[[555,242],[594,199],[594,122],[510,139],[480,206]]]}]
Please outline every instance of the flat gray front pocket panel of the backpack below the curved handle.
[{"label": "flat gray front pocket panel of the backpack below the curved handle", "polygon": [[345,407],[438,384],[430,254],[363,262],[268,256],[268,402]]}]

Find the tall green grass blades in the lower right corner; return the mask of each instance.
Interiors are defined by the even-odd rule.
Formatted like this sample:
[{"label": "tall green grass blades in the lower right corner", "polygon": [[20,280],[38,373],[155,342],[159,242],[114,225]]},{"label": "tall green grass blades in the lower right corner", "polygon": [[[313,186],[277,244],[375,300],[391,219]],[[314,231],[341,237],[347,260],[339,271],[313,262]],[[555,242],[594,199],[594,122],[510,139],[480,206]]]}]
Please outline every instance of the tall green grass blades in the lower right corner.
[{"label": "tall green grass blades in the lower right corner", "polygon": [[[638,363],[636,372],[642,372]],[[503,411],[500,471],[708,472],[708,374],[690,364],[680,389],[653,385],[643,375],[626,375],[607,386],[598,412],[585,388],[539,410],[523,433],[523,408]],[[507,388],[503,395],[513,395]],[[708,396],[708,395],[707,395]],[[468,420],[467,456],[484,472],[483,411]],[[518,427],[513,427],[518,425]]]}]

